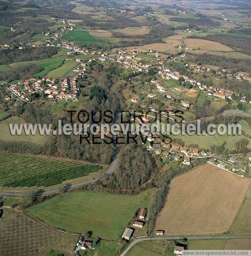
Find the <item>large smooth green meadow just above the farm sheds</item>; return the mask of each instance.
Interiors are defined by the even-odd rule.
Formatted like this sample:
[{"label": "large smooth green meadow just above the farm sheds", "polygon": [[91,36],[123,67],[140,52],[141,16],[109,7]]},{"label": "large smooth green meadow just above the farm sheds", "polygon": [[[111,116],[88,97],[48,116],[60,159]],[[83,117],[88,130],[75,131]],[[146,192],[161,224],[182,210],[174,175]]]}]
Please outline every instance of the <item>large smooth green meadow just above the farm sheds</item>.
[{"label": "large smooth green meadow just above the farm sheds", "polygon": [[136,209],[149,208],[154,190],[137,196],[74,192],[45,201],[27,211],[52,226],[93,237],[118,240]]}]

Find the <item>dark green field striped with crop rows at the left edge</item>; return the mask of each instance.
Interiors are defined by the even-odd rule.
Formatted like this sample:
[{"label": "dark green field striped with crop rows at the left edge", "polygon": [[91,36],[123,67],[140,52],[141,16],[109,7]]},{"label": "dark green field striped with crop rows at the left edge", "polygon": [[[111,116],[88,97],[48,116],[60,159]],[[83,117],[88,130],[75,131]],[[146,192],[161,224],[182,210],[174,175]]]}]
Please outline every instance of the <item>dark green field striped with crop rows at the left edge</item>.
[{"label": "dark green field striped with crop rows at the left edge", "polygon": [[0,153],[0,170],[4,170],[0,172],[0,185],[3,187],[47,187],[64,180],[83,177],[101,169],[99,165]]}]

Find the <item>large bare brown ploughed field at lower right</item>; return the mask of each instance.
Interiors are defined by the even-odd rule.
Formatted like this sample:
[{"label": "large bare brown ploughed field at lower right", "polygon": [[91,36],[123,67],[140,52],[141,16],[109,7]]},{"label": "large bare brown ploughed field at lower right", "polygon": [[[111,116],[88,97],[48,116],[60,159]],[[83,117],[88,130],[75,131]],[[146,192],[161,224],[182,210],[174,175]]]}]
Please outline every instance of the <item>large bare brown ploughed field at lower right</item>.
[{"label": "large bare brown ploughed field at lower right", "polygon": [[228,231],[249,183],[209,164],[174,178],[156,230],[165,230],[166,235]]}]

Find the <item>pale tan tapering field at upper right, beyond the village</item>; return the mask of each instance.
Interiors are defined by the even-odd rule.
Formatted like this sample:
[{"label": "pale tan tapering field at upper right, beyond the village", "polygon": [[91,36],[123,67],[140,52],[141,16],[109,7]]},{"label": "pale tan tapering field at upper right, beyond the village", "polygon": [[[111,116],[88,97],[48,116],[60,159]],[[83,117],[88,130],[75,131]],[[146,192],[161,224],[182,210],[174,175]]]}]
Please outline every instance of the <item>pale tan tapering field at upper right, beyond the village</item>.
[{"label": "pale tan tapering field at upper right, beyond the village", "polygon": [[231,49],[228,46],[225,46],[218,42],[212,42],[212,41],[203,40],[203,39],[187,38],[187,39],[184,39],[184,42],[186,44],[186,48],[193,48],[193,49],[200,48],[200,50],[218,51],[218,52],[233,51],[233,49]]}]

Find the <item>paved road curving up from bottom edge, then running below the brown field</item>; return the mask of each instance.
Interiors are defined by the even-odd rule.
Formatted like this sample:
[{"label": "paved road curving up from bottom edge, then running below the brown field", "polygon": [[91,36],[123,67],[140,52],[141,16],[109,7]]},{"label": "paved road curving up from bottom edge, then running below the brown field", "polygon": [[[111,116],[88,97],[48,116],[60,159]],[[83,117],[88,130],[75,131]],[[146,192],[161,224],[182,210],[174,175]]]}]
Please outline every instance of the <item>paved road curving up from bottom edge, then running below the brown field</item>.
[{"label": "paved road curving up from bottom edge, then running below the brown field", "polygon": [[[188,240],[201,240],[201,239],[236,239],[236,238],[251,238],[251,235],[209,235],[209,236],[183,236],[183,237],[177,237],[177,236],[169,236],[169,237],[154,237],[151,238],[150,241],[155,240],[181,240],[187,238]],[[120,256],[125,256],[126,253],[136,244],[142,241],[149,240],[149,237],[146,238],[136,238],[134,239],[123,251],[123,253],[120,254]]]}]

